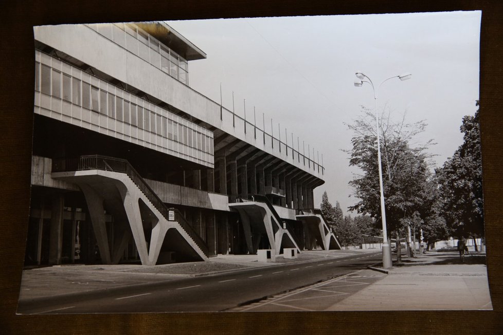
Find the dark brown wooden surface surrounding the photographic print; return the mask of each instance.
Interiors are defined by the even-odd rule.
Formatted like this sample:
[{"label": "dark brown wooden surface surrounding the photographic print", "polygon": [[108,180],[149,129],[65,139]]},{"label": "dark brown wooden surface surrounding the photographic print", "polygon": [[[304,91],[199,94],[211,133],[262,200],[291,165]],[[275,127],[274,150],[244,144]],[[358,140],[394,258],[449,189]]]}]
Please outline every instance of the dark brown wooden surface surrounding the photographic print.
[{"label": "dark brown wooden surface surrounding the photographic print", "polygon": [[[34,25],[218,17],[482,10],[480,119],[488,272],[494,311],[15,315],[27,232],[33,122]],[[2,333],[502,333],[501,94],[498,0],[174,0],[0,4],[0,332]],[[350,29],[350,28],[348,28]],[[337,32],[337,33],[344,33]],[[342,49],[344,50],[344,49]],[[342,51],[344,52],[344,51]],[[443,79],[448,85],[448,78]],[[474,110],[475,111],[475,110]],[[470,299],[470,297],[466,297]]]}]

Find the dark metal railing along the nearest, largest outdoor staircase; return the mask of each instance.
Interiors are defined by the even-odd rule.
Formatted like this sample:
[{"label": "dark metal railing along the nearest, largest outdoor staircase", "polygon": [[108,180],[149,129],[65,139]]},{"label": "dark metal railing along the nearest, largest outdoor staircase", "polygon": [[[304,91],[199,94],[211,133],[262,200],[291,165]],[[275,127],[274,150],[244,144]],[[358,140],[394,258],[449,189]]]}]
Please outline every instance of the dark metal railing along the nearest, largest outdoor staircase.
[{"label": "dark metal railing along the nearest, largest outdoor staircase", "polygon": [[[143,194],[152,202],[154,207],[163,215],[167,220],[169,211],[164,202],[157,196],[157,194],[150,188],[147,182],[139,175],[134,167],[125,159],[119,159],[108,156],[88,155],[78,158],[70,159],[53,159],[52,172],[69,172],[69,171],[84,171],[84,170],[103,170],[118,173],[125,173],[136,184]],[[173,209],[171,209],[173,210]],[[182,229],[192,238],[194,243],[208,256],[208,246],[204,240],[197,234],[197,232],[190,226],[182,215],[181,212],[174,209],[175,218]]]}]

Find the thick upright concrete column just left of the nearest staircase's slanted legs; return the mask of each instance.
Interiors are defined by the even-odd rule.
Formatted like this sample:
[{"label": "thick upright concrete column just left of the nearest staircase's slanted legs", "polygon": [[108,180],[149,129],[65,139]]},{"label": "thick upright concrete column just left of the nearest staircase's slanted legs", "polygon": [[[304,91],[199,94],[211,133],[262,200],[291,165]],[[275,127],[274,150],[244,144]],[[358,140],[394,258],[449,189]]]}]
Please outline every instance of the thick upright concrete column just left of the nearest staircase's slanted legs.
[{"label": "thick upright concrete column just left of the nearest staircase's slanted legs", "polygon": [[52,198],[50,218],[49,265],[61,264],[61,251],[63,249],[63,207],[64,195],[54,195]]}]

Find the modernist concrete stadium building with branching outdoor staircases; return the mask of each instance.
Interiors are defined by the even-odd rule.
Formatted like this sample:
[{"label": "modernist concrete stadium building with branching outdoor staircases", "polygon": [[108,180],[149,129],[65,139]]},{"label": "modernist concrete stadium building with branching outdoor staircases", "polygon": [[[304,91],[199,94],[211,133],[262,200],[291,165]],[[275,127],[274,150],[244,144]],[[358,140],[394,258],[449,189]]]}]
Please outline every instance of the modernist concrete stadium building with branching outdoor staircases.
[{"label": "modernist concrete stadium building with branching outdoor staircases", "polygon": [[184,36],[163,22],[34,34],[26,265],[340,248],[314,209],[324,167],[190,88],[206,54]]}]

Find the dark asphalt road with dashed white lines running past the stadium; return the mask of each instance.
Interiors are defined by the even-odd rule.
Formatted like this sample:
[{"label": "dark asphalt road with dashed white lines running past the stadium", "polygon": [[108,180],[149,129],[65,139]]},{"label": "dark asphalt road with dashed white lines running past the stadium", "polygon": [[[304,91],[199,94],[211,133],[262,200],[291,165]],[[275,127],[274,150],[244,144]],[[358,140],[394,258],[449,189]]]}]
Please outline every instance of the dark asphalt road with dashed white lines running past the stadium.
[{"label": "dark asphalt road with dashed white lines running past the stadium", "polygon": [[97,294],[52,297],[20,306],[18,311],[23,314],[225,311],[364,269],[381,260],[380,252],[341,256],[180,278]]}]

